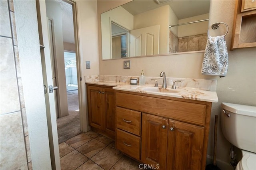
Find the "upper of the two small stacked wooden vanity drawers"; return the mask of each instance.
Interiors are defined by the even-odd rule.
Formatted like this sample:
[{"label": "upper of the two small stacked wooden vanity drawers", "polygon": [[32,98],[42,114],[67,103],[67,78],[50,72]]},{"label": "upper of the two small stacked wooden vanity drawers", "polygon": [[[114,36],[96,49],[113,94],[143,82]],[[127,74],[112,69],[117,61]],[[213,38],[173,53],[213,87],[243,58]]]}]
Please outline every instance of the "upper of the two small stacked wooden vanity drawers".
[{"label": "upper of the two small stacked wooden vanity drawers", "polygon": [[141,113],[116,107],[116,127],[140,136]]}]

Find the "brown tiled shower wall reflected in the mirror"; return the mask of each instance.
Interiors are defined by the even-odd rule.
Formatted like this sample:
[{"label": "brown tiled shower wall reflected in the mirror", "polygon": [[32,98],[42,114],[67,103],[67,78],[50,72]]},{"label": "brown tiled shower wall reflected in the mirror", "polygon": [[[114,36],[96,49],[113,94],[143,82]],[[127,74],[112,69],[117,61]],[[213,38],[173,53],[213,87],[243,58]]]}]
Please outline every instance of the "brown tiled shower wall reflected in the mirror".
[{"label": "brown tiled shower wall reflected in the mirror", "polygon": [[170,53],[187,52],[187,51],[201,51],[205,50],[207,42],[207,33],[198,34],[194,36],[177,37],[170,31]]}]

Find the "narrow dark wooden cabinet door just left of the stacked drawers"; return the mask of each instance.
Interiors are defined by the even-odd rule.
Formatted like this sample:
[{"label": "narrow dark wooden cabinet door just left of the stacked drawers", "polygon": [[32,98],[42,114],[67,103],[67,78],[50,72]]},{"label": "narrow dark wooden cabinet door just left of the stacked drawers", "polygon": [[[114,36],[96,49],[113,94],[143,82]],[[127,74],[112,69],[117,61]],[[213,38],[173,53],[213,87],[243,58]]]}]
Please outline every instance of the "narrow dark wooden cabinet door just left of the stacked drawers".
[{"label": "narrow dark wooden cabinet door just left of the stacked drawers", "polygon": [[115,92],[113,89],[104,89],[106,99],[105,130],[115,136]]}]

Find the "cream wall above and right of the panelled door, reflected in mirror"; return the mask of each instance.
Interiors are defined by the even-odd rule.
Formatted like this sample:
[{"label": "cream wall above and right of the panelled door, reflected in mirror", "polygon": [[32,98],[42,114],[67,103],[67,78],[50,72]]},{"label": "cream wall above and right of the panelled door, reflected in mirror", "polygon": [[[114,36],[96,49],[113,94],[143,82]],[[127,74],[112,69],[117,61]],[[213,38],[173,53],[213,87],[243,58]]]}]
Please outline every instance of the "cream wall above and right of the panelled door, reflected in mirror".
[{"label": "cream wall above and right of the panelled door, reflected in mirror", "polygon": [[134,30],[160,25],[159,54],[169,53],[169,5],[134,16]]}]

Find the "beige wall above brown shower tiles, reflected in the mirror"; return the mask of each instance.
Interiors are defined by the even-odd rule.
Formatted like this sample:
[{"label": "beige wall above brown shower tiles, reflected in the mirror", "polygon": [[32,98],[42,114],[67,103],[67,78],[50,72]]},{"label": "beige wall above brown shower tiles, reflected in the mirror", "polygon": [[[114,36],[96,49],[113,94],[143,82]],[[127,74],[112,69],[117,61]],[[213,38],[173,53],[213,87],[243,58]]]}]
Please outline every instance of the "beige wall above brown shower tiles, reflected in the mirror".
[{"label": "beige wall above brown shower tiles, reflected in the mirror", "polygon": [[[192,21],[198,21],[198,20],[204,20],[204,19],[208,19],[208,18],[209,18],[209,14],[202,14],[202,15],[193,16],[190,18],[184,18],[182,20],[179,20],[179,24],[186,23],[186,22],[192,22]],[[207,29],[208,29],[208,21],[178,26],[178,37],[205,34],[205,33],[207,33]]]}]

